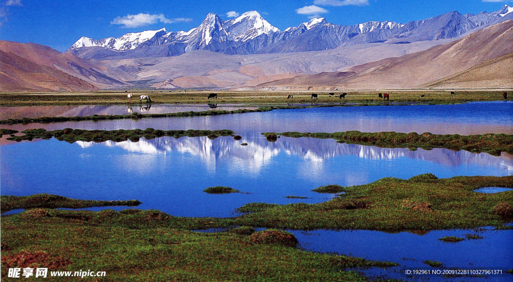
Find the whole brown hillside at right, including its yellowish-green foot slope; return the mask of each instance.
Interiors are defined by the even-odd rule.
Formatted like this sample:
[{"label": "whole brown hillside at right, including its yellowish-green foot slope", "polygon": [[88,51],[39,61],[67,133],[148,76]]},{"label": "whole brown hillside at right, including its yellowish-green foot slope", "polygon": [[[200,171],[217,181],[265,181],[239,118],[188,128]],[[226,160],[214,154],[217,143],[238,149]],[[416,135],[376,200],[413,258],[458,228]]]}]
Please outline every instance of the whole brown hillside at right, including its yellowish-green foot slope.
[{"label": "whole brown hillside at right, including its yellowish-green foot slope", "polygon": [[[513,21],[509,20],[425,51],[352,67],[349,72],[357,73],[353,76],[340,78],[333,73],[333,79],[324,79],[323,83],[325,87],[349,89],[399,89],[431,85],[443,87],[441,81],[449,79],[445,82],[447,87],[503,87],[511,77],[507,65],[510,62],[507,54],[513,48],[511,42]],[[494,61],[501,56],[505,57]],[[259,86],[272,84],[305,88],[316,85],[316,75],[302,76],[301,82],[298,79],[282,79]]]}]

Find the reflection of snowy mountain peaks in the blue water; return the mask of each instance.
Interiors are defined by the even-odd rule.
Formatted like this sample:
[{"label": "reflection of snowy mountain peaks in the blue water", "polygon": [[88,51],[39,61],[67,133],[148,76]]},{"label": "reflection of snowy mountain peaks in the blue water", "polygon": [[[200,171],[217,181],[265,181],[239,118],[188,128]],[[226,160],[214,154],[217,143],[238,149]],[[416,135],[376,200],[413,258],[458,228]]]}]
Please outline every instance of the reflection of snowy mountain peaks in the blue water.
[{"label": "reflection of snowy mountain peaks in the blue water", "polygon": [[[247,143],[247,146],[241,146]],[[82,148],[90,146],[121,147],[129,152],[145,154],[162,154],[166,152],[181,152],[199,156],[209,171],[215,170],[216,163],[221,159],[236,166],[243,167],[252,173],[259,173],[261,168],[271,162],[271,158],[283,152],[287,155],[299,156],[312,163],[325,162],[336,156],[357,156],[367,160],[397,160],[407,158],[424,160],[447,167],[464,164],[475,164],[483,167],[497,167],[513,173],[513,157],[503,153],[495,157],[486,153],[470,153],[468,151],[451,151],[436,148],[432,150],[418,149],[411,151],[407,148],[379,148],[354,144],[340,144],[333,139],[289,138],[281,137],[278,142],[268,142],[262,135],[244,136],[235,141],[229,137],[209,139],[207,137],[173,138],[160,137],[151,140],[141,138],[139,142],[104,143],[81,142],[76,144]],[[498,159],[500,159],[498,161]]]}]

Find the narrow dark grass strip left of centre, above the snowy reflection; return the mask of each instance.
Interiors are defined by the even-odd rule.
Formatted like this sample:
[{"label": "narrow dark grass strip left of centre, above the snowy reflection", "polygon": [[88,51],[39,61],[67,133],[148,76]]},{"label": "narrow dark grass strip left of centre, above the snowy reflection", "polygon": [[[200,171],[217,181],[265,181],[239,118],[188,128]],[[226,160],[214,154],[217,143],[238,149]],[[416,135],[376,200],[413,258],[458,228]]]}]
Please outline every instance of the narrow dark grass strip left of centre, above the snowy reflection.
[{"label": "narrow dark grass strip left of centre, above the snowy reflection", "polygon": [[46,129],[26,129],[22,131],[24,135],[8,137],[8,140],[21,142],[23,140],[32,140],[36,138],[50,139],[55,137],[57,140],[73,143],[76,141],[84,142],[106,142],[111,140],[113,142],[123,142],[131,140],[132,142],[139,141],[140,138],[154,139],[163,136],[170,136],[175,138],[180,137],[199,137],[207,136],[210,139],[215,139],[219,136],[232,136],[231,130],[159,130],[153,128],[147,129],[130,129],[130,130],[83,130],[65,128],[62,130],[47,131]]}]

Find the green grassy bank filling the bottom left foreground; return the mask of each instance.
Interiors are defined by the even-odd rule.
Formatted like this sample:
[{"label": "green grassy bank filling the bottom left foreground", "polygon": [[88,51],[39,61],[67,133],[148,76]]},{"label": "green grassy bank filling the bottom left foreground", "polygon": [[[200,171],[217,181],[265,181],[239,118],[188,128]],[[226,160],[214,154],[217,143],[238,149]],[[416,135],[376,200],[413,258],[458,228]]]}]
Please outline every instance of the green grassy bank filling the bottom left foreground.
[{"label": "green grassy bank filling the bottom left foreground", "polygon": [[[78,211],[66,212],[2,218],[3,279],[9,268],[48,267],[48,274],[54,270],[105,271],[102,280],[107,281],[367,281],[351,269],[398,266],[303,251],[277,240],[255,240],[263,232],[251,228],[242,230],[249,232],[215,233],[147,224],[127,228],[121,218],[120,223],[112,222],[111,218],[121,214],[112,210],[95,213],[95,224]],[[145,220],[158,218],[148,214]]]}]

